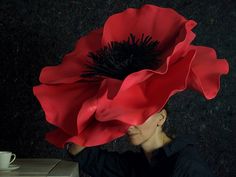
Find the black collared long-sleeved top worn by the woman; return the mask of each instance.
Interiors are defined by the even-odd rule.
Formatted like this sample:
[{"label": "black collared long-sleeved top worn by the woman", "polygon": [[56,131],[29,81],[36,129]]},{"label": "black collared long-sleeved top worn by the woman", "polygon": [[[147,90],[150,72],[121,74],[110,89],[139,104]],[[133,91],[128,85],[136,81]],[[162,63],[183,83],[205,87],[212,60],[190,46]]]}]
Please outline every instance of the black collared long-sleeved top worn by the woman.
[{"label": "black collared long-sleeved top worn by the woman", "polygon": [[76,156],[80,170],[92,177],[213,177],[190,137],[177,137],[155,150],[151,162],[144,152],[109,152],[89,147]]}]

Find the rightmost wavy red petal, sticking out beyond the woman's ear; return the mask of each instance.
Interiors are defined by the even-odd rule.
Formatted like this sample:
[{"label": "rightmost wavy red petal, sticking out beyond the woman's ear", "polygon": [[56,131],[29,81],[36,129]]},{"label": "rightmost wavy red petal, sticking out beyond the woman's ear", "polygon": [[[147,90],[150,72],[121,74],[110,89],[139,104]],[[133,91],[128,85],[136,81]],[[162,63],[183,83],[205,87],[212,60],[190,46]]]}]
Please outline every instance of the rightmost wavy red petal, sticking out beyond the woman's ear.
[{"label": "rightmost wavy red petal, sticking out beyond the woman's ear", "polygon": [[188,87],[205,96],[214,98],[220,89],[220,76],[229,72],[229,64],[225,59],[218,60],[214,49],[203,46],[191,46],[196,50]]}]

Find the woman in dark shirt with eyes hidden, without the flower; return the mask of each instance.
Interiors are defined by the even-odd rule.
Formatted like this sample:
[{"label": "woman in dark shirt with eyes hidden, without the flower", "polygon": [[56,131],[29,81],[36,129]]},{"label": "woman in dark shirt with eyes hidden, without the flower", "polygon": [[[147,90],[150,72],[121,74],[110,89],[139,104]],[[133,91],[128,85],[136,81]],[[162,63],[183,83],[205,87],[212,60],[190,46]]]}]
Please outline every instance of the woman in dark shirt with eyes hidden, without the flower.
[{"label": "woman in dark shirt with eyes hidden, without the flower", "polygon": [[99,147],[68,146],[73,161],[92,177],[210,177],[207,164],[190,137],[169,137],[163,131],[167,111],[157,112],[143,124],[130,126],[127,136],[141,152],[108,152]]}]

